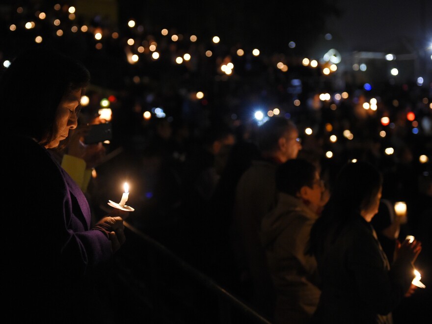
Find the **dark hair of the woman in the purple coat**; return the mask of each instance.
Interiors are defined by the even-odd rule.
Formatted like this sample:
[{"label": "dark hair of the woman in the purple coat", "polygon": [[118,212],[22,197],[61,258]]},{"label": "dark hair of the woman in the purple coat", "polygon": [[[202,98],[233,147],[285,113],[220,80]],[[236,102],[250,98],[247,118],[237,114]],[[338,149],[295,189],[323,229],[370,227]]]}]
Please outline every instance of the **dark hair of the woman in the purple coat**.
[{"label": "dark hair of the woman in the purple coat", "polygon": [[23,52],[0,77],[3,129],[46,145],[56,133],[54,120],[63,96],[89,81],[88,70],[74,58],[43,47]]}]

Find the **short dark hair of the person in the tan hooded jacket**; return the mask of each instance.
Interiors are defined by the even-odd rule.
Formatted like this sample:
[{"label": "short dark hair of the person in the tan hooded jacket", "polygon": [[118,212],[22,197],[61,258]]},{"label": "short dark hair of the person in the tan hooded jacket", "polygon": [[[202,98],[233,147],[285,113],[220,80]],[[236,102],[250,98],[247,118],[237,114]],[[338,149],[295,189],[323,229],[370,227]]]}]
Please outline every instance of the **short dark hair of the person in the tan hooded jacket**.
[{"label": "short dark hair of the person in the tan hooded jacket", "polygon": [[315,164],[305,159],[288,160],[276,169],[276,189],[296,196],[303,186],[313,187],[317,170]]}]

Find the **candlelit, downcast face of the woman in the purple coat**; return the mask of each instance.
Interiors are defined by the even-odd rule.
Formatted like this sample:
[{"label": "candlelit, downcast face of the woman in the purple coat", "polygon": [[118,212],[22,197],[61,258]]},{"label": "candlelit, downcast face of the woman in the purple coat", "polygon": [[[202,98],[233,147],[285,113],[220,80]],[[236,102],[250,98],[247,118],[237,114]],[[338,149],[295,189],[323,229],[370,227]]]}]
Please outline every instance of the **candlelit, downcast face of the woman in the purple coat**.
[{"label": "candlelit, downcast face of the woman in the purple coat", "polygon": [[80,108],[81,89],[74,90],[64,96],[57,107],[55,116],[55,124],[57,126],[57,134],[54,139],[45,145],[46,148],[57,147],[61,140],[69,135],[70,129],[77,128],[78,119],[77,113]]}]

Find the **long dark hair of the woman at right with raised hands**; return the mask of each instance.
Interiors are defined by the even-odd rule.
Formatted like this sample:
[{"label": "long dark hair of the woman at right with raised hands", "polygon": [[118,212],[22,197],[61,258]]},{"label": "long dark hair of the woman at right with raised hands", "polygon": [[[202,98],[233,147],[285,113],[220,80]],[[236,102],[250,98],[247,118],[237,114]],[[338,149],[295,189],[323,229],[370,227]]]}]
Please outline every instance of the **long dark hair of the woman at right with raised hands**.
[{"label": "long dark hair of the woman at right with raised hands", "polygon": [[382,175],[373,164],[345,164],[336,177],[321,217],[312,226],[309,252],[316,253],[323,246],[330,228],[334,229],[332,239],[336,239],[345,224],[360,217],[360,211],[368,209],[374,203],[381,186]]}]

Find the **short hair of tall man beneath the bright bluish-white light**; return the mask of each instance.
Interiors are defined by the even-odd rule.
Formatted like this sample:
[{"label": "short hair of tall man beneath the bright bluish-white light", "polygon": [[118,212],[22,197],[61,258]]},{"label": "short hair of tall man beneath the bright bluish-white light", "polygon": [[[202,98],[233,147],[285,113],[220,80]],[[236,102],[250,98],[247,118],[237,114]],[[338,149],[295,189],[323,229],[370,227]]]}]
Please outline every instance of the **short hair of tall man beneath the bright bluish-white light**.
[{"label": "short hair of tall man beneath the bright bluish-white light", "polygon": [[285,117],[271,117],[258,129],[258,147],[261,152],[274,152],[278,140],[287,132],[297,130],[296,125]]}]

